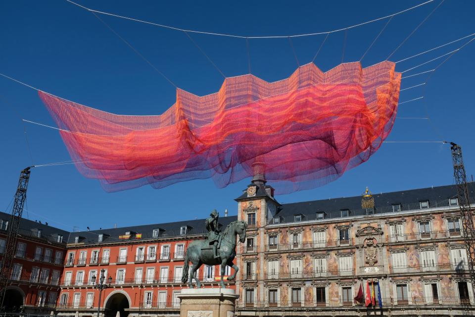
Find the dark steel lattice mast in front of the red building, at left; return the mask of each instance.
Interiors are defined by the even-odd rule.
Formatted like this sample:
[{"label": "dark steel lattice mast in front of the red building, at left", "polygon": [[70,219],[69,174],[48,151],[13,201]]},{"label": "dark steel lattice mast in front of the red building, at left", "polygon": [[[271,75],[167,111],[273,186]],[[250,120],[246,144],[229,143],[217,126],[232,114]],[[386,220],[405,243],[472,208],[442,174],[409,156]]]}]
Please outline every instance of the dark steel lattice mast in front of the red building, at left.
[{"label": "dark steel lattice mast in front of the red building, at left", "polygon": [[5,250],[3,251],[3,257],[0,265],[0,296],[1,306],[3,307],[3,300],[6,294],[6,287],[11,278],[11,265],[14,258],[16,240],[18,237],[18,231],[20,229],[21,215],[23,213],[23,206],[26,200],[26,190],[28,188],[28,181],[30,180],[30,168],[27,167],[20,173],[20,180],[18,181],[18,187],[15,193],[15,199],[13,201],[13,207],[10,215],[10,221],[7,224],[7,234]]}]

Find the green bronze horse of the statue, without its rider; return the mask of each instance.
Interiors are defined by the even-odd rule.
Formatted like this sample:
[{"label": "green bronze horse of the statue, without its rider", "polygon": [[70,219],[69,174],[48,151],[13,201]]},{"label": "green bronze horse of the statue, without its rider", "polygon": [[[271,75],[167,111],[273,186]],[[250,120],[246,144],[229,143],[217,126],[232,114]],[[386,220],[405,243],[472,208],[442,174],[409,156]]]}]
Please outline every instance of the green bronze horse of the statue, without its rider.
[{"label": "green bronze horse of the statue, without its rider", "polygon": [[[244,242],[246,239],[246,228],[247,223],[245,221],[233,221],[231,222],[222,233],[221,246],[219,248],[219,258],[215,259],[213,254],[213,249],[210,248],[208,240],[196,240],[190,243],[187,248],[187,254],[185,256],[185,265],[183,267],[183,277],[182,282],[193,287],[193,278],[196,281],[196,286],[201,287],[199,280],[196,278],[194,273],[202,265],[221,265],[221,287],[225,288],[223,283],[223,275],[226,269],[226,265],[229,265],[234,268],[234,274],[228,276],[228,280],[232,281],[235,279],[236,274],[238,273],[238,266],[233,264],[233,260],[236,257],[236,237],[239,235],[239,242]],[[193,267],[190,270],[189,262],[193,264]],[[188,273],[190,270],[190,274]]]}]

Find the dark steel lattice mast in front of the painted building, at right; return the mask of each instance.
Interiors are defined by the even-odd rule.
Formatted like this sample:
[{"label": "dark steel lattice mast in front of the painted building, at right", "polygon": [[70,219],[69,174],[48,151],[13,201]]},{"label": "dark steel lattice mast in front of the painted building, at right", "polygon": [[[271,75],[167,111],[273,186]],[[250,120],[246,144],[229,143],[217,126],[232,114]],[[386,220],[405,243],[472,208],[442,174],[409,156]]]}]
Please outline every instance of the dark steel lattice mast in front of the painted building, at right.
[{"label": "dark steel lattice mast in front of the painted building, at right", "polygon": [[454,177],[457,185],[457,195],[459,200],[460,217],[462,218],[463,236],[465,248],[467,249],[470,280],[475,294],[475,228],[474,217],[470,207],[469,188],[467,186],[467,174],[465,173],[462,148],[450,142],[452,151],[452,161],[454,164]]}]

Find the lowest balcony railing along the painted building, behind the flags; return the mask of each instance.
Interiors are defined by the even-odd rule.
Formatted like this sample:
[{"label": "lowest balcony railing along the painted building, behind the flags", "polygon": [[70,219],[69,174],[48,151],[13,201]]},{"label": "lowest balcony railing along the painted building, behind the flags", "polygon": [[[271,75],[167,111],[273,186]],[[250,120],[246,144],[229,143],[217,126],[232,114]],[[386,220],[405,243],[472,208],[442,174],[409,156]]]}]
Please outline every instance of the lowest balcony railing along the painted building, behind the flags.
[{"label": "lowest balcony railing along the painted building, behind the flags", "polygon": [[[394,299],[394,298],[382,298],[383,308],[394,308],[400,306],[473,306],[475,304],[474,298],[459,298],[459,297],[414,297],[412,299]],[[378,301],[376,306],[379,307]],[[364,308],[363,304],[356,304],[353,299],[349,301],[340,300],[304,300],[304,301],[258,301],[258,302],[239,302],[237,304],[238,309],[263,309],[263,308],[323,308],[323,307],[354,307],[355,309]]]}]

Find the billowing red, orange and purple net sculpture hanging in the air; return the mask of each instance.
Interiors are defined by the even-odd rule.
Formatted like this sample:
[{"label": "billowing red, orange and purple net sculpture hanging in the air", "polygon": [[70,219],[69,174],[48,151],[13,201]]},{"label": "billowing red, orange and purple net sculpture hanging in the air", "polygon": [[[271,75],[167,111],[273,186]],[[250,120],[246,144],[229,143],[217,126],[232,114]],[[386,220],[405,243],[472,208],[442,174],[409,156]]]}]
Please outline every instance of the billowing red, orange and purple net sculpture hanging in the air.
[{"label": "billowing red, orange and purple net sculpture hanging in the air", "polygon": [[106,191],[204,178],[224,187],[252,176],[257,162],[283,194],[333,181],[379,149],[397,110],[394,67],[354,62],[324,73],[310,63],[274,83],[226,78],[203,97],[178,89],[161,115],[117,115],[39,94],[78,170]]}]

